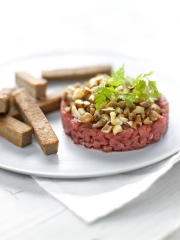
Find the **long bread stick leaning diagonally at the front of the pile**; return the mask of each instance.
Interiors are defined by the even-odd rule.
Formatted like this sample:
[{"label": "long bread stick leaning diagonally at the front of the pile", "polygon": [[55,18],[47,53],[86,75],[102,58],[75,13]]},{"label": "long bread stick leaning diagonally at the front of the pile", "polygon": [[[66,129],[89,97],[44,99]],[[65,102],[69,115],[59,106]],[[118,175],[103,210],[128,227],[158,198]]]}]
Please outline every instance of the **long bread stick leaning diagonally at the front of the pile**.
[{"label": "long bread stick leaning diagonally at the front of the pile", "polygon": [[17,89],[13,95],[24,121],[33,128],[44,154],[57,153],[58,138],[35,100],[24,88]]}]

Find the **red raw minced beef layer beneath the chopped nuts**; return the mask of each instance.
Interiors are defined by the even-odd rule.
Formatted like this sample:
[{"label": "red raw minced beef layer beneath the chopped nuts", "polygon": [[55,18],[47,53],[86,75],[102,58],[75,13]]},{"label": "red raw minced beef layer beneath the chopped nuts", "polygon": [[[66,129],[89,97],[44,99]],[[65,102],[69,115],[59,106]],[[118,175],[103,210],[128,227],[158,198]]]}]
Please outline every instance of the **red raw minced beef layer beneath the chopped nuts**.
[{"label": "red raw minced beef layer beneath the chopped nuts", "polygon": [[147,144],[161,139],[168,127],[169,104],[164,96],[156,102],[160,107],[160,117],[149,125],[138,126],[137,130],[128,124],[122,126],[123,131],[114,135],[103,133],[101,129],[92,128],[92,124],[82,123],[65,111],[66,101],[61,103],[61,116],[65,133],[75,144],[86,148],[100,149],[104,152],[128,151],[140,149]]}]

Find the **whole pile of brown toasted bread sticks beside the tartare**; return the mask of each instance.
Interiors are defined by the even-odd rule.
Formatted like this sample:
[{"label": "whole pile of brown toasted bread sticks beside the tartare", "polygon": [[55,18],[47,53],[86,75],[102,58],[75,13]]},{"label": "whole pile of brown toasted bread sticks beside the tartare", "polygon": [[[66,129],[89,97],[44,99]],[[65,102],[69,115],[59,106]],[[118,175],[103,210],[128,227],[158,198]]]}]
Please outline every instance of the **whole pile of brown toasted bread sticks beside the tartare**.
[{"label": "whole pile of brown toasted bread sticks beside the tartare", "polygon": [[110,65],[42,71],[40,79],[27,72],[16,72],[19,88],[0,91],[0,136],[25,147],[31,144],[34,134],[45,155],[57,153],[59,140],[44,114],[59,110],[64,89],[47,95],[48,82],[110,73]]}]

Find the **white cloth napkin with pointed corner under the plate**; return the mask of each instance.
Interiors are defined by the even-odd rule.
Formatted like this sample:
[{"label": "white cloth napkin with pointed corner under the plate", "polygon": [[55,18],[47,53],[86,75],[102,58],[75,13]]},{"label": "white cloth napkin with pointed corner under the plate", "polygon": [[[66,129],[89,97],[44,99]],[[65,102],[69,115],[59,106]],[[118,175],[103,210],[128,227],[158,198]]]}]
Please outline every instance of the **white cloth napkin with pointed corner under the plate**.
[{"label": "white cloth napkin with pointed corner under the plate", "polygon": [[137,198],[179,160],[180,152],[146,168],[100,178],[33,178],[77,216],[92,223]]}]

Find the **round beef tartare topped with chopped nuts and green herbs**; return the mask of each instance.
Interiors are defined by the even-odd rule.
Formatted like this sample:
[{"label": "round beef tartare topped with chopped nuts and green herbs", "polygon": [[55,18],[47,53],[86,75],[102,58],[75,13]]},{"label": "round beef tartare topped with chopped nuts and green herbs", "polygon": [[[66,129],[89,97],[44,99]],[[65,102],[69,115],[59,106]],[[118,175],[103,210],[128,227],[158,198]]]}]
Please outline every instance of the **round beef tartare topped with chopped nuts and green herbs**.
[{"label": "round beef tartare topped with chopped nuts and green herbs", "polygon": [[[104,152],[128,151],[157,142],[166,132],[169,104],[148,79],[151,74],[131,79],[124,77],[123,67],[118,71],[114,77],[98,75],[83,87],[75,84],[65,91],[62,124],[75,144]],[[123,82],[115,82],[116,77]]]}]

